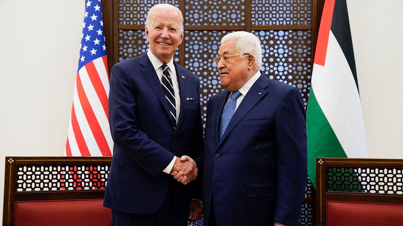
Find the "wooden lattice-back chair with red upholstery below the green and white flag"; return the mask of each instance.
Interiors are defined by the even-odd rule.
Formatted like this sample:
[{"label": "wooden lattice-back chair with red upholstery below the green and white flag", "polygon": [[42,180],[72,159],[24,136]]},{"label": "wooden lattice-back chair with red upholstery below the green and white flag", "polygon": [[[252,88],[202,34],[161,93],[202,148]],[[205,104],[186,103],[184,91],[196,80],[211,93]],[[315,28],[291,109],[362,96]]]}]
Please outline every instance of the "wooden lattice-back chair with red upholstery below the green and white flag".
[{"label": "wooden lattice-back chair with red upholstery below the green and white flag", "polygon": [[317,226],[403,225],[403,160],[316,159]]}]

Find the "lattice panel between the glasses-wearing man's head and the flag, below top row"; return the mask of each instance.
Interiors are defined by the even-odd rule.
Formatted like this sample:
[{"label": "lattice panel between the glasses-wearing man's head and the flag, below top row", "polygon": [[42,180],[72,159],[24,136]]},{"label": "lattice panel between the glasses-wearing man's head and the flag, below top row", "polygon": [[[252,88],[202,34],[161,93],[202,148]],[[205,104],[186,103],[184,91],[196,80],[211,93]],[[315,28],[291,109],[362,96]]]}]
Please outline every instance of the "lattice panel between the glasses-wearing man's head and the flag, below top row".
[{"label": "lattice panel between the glasses-wearing man's head and the flag, below top row", "polygon": [[268,78],[298,88],[307,106],[312,76],[312,31],[251,31],[262,43]]}]

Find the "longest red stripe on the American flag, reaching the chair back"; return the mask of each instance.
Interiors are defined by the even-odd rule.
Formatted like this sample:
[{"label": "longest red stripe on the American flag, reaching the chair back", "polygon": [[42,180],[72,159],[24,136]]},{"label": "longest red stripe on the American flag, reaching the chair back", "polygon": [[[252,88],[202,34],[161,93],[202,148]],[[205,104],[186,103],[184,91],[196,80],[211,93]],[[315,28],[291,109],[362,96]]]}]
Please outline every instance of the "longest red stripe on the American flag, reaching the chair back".
[{"label": "longest red stripe on the American flag, reaching the chair back", "polygon": [[100,124],[94,114],[94,111],[92,110],[91,105],[89,104],[87,95],[85,95],[83,84],[81,83],[79,75],[80,73],[77,74],[77,81],[76,81],[77,93],[78,98],[80,99],[81,107],[83,108],[85,118],[88,121],[89,128],[91,129],[92,135],[95,138],[98,147],[100,148],[102,156],[111,156],[108,142],[106,142],[106,138],[104,136],[104,133],[102,132]]}]

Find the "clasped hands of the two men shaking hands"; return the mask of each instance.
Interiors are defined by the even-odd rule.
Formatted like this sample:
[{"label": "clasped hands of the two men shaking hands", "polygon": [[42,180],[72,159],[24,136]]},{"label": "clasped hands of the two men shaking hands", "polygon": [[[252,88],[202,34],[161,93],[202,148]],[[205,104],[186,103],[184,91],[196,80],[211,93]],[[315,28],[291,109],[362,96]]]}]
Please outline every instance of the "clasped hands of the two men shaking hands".
[{"label": "clasped hands of the two men shaking hands", "polygon": [[170,175],[184,185],[196,179],[198,175],[196,162],[187,155],[175,159]]}]

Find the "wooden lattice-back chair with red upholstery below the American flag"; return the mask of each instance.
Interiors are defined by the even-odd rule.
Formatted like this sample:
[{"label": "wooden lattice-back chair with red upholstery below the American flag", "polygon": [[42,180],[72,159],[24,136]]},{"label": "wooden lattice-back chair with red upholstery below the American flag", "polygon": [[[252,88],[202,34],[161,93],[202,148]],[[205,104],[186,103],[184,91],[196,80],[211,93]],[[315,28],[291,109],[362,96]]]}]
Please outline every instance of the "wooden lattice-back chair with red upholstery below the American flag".
[{"label": "wooden lattice-back chair with red upholstery below the American flag", "polygon": [[112,157],[6,157],[3,226],[111,226]]}]

